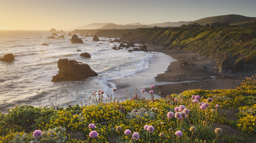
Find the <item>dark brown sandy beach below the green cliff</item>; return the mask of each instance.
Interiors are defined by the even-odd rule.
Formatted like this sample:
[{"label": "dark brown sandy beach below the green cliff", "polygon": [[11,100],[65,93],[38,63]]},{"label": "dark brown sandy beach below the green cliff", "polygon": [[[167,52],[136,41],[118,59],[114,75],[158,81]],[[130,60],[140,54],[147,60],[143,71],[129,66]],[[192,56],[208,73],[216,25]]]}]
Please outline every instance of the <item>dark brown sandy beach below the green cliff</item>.
[{"label": "dark brown sandy beach below the green cliff", "polygon": [[[139,45],[139,47],[142,45]],[[155,77],[156,82],[182,82],[194,81],[175,84],[161,85],[161,91],[164,96],[174,93],[181,93],[190,89],[234,89],[242,83],[242,80],[247,76],[255,75],[250,72],[237,73],[219,73],[215,69],[216,62],[213,59],[199,55],[194,52],[165,50],[163,47],[155,47],[146,44],[149,51],[162,52],[166,55],[177,59],[178,61],[170,63],[168,69]],[[206,67],[206,69],[201,67]],[[213,79],[211,76],[214,76]],[[155,85],[155,94],[160,92],[160,85]],[[149,90],[149,88],[147,89]]]}]

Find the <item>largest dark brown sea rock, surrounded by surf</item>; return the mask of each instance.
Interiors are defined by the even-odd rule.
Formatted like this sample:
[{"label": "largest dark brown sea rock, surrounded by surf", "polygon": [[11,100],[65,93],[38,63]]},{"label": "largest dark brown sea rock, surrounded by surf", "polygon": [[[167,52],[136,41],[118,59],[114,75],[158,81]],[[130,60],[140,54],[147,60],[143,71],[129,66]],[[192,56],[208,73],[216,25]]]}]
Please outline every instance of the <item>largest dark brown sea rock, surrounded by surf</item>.
[{"label": "largest dark brown sea rock, surrounded by surf", "polygon": [[59,59],[57,63],[59,73],[53,76],[53,82],[76,81],[98,75],[88,64],[83,64],[76,60],[68,60],[67,58],[64,58]]}]

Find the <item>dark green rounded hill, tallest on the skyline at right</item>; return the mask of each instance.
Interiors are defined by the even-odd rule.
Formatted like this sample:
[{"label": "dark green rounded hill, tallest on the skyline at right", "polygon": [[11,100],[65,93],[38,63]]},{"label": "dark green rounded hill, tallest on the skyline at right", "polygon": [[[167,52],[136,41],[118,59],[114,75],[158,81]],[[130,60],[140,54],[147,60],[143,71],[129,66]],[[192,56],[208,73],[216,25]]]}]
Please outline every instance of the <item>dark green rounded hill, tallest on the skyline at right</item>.
[{"label": "dark green rounded hill, tallest on the skyline at right", "polygon": [[246,17],[243,15],[229,14],[229,15],[222,15],[222,16],[206,17],[206,18],[202,18],[202,19],[190,22],[188,24],[197,23],[197,24],[205,25],[205,24],[212,24],[217,22],[220,22],[220,23],[227,22],[228,24],[237,24],[237,23],[242,23],[244,21],[252,20],[254,18],[255,17]]}]

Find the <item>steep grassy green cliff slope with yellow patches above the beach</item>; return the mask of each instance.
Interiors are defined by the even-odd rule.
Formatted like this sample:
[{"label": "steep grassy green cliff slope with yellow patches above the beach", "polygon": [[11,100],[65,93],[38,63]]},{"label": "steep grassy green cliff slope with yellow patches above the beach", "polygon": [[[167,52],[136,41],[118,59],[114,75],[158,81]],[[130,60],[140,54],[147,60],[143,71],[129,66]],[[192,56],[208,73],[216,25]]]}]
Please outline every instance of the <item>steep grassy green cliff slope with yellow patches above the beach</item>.
[{"label": "steep grassy green cliff slope with yellow patches above the beach", "polygon": [[150,43],[172,50],[198,52],[216,60],[224,52],[230,52],[236,65],[239,66],[239,71],[255,70],[250,68],[252,63],[256,63],[255,28],[138,28],[133,32],[122,34],[121,40]]}]

